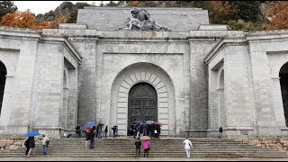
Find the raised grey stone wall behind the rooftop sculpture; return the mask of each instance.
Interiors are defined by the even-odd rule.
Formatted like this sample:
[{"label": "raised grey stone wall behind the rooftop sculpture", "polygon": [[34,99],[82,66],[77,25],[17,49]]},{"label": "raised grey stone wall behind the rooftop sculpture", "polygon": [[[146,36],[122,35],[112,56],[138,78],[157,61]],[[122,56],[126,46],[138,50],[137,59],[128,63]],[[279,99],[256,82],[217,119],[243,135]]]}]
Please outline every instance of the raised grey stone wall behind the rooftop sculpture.
[{"label": "raised grey stone wall behind the rooftop sculpture", "polygon": [[[125,27],[132,15],[131,7],[94,7],[79,9],[77,23],[85,23],[89,29],[114,31]],[[199,24],[209,24],[208,11],[201,8],[144,8],[159,26],[172,31],[197,30]],[[181,25],[180,25],[181,24]]]}]

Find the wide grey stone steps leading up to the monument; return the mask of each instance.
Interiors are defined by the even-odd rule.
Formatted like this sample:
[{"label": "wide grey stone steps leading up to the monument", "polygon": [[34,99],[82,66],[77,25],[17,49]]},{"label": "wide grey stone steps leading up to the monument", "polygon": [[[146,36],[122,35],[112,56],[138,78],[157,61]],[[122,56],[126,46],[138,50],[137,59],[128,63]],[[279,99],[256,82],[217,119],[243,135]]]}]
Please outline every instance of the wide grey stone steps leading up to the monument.
[{"label": "wide grey stone steps leading up to the monument", "polygon": [[[151,139],[149,157],[185,157],[183,138]],[[259,148],[234,139],[190,139],[192,157],[288,157],[286,151]],[[135,157],[135,139],[95,139],[94,149],[85,148],[85,139],[51,139],[47,157]],[[0,157],[24,157],[26,148],[1,150]],[[40,144],[35,147],[36,157],[43,156]],[[141,148],[141,157],[143,149]]]}]

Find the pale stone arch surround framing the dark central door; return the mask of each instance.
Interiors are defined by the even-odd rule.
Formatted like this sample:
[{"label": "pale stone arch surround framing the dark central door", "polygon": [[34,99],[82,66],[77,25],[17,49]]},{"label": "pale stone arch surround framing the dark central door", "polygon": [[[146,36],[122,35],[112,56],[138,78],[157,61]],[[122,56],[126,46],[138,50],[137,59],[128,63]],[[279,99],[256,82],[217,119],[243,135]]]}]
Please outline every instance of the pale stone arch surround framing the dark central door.
[{"label": "pale stone arch surround framing the dark central door", "polygon": [[[121,70],[112,85],[110,123],[117,124],[120,135],[127,135],[130,114],[130,92],[138,85],[155,89],[156,114],[154,118],[163,123],[162,135],[175,135],[175,88],[171,78],[161,67],[151,63],[136,63]],[[138,88],[137,88],[138,89]],[[152,97],[154,98],[154,97]],[[148,119],[148,118],[147,118]]]}]

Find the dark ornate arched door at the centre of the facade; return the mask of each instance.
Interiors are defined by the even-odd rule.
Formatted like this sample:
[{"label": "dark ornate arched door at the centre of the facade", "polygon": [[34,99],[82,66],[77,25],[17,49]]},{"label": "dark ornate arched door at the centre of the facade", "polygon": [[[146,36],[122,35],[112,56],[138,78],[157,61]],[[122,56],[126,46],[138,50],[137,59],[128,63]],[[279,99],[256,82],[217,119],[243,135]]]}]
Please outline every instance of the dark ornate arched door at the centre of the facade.
[{"label": "dark ornate arched door at the centre of the facade", "polygon": [[157,92],[145,82],[133,85],[129,92],[128,128],[133,121],[157,121]]}]

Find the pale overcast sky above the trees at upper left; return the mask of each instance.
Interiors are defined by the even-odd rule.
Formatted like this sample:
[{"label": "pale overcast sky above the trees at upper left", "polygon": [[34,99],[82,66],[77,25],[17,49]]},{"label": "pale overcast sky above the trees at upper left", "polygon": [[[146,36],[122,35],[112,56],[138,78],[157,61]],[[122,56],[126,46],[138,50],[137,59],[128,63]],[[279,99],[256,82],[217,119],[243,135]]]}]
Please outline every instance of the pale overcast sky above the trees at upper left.
[{"label": "pale overcast sky above the trees at upper left", "polygon": [[[65,1],[13,1],[14,4],[18,7],[18,11],[23,12],[27,9],[30,9],[31,13],[33,14],[45,14],[48,13],[50,10],[55,10],[59,4]],[[97,4],[99,5],[101,1],[69,1],[73,4],[77,2],[85,2],[87,4]],[[109,1],[108,1],[109,2]],[[104,4],[106,2],[103,1]]]}]

